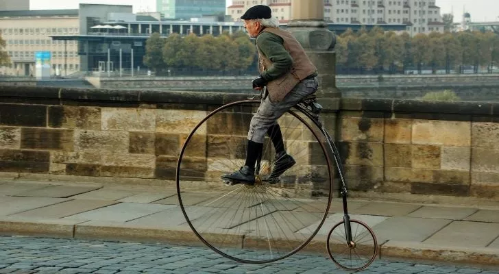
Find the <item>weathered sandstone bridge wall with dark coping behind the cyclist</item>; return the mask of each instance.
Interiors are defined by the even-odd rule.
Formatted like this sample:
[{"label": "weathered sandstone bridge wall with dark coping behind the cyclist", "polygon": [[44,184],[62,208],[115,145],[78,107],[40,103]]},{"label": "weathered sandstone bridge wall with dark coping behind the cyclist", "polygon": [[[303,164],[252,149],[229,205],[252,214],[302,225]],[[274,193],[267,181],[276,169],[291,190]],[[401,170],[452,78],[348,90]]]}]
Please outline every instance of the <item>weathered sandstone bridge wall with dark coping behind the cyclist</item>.
[{"label": "weathered sandstone bridge wall with dark coping behind the cyclist", "polygon": [[[162,184],[195,123],[245,97],[0,86],[0,174]],[[352,190],[499,198],[498,103],[319,103]]]}]

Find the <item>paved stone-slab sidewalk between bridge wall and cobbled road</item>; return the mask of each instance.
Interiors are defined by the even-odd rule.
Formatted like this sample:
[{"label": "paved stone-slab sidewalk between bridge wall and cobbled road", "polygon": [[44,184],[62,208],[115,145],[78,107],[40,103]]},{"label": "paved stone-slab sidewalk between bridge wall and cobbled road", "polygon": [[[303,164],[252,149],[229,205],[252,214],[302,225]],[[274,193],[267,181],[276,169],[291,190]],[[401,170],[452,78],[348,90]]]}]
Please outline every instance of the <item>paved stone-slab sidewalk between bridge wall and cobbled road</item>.
[{"label": "paved stone-slab sidewalk between bridge wall and cobbled road", "polygon": [[[316,236],[320,249],[307,251],[325,253],[320,241],[341,216],[340,202],[334,201],[337,210]],[[351,219],[373,228],[381,257],[499,265],[499,202],[452,206],[349,199],[348,206]],[[183,218],[174,188],[0,181],[1,235],[202,245],[188,225],[178,225]]]}]

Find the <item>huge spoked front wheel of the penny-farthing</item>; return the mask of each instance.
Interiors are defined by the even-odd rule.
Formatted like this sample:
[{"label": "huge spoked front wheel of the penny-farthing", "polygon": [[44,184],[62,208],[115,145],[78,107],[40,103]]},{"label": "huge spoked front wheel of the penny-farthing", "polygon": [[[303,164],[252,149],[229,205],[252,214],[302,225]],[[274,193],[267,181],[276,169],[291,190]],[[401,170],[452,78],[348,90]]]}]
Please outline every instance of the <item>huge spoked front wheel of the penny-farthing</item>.
[{"label": "huge spoked front wheel of the penny-farthing", "polygon": [[244,165],[249,122],[259,104],[238,101],[208,114],[186,138],[177,166],[186,224],[208,247],[238,262],[273,262],[296,253],[317,234],[330,206],[324,136],[296,108],[278,120],[296,164],[271,184],[276,153],[267,138],[256,184],[223,184],[221,175]]}]

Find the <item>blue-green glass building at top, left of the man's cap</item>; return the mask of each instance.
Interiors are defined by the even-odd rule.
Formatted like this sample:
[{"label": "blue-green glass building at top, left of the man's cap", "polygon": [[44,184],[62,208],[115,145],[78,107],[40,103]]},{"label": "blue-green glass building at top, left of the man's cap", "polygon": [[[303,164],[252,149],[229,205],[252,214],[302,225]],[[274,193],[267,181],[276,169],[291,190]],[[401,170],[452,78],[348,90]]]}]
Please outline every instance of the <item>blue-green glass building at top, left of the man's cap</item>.
[{"label": "blue-green glass building at top, left of the man's cap", "polygon": [[167,19],[199,18],[226,12],[226,0],[156,0],[156,11]]}]

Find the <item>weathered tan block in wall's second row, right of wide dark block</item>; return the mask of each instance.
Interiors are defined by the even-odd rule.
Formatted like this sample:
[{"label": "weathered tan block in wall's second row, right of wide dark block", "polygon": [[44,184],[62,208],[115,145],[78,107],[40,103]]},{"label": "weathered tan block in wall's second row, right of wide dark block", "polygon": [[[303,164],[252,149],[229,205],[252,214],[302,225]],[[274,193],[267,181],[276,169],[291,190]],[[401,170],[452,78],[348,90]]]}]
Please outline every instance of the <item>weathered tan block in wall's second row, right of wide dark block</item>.
[{"label": "weathered tan block in wall's second row, right of wide dark block", "polygon": [[128,132],[75,129],[75,151],[128,152]]}]

